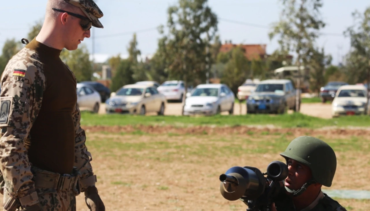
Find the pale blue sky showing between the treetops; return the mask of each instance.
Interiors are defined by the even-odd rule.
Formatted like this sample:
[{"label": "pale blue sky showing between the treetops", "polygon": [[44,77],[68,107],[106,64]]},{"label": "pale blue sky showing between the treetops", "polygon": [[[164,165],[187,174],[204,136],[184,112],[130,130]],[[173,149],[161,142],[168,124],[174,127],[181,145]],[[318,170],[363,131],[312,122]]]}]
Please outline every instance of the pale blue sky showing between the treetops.
[{"label": "pale blue sky showing between the treetops", "polygon": [[[8,38],[27,37],[30,27],[44,18],[47,0],[4,1],[0,7],[0,48]],[[227,3],[226,3],[227,2]],[[137,32],[138,47],[142,54],[153,54],[157,49],[159,33],[155,29],[166,24],[168,6],[176,0],[98,0],[104,16],[100,19],[104,29],[94,29],[95,58],[104,61],[109,56],[127,54],[132,33]],[[219,31],[222,40],[239,44],[267,44],[268,53],[278,48],[276,40],[270,41],[263,26],[279,20],[279,0],[209,0],[209,6],[219,17]],[[317,45],[332,54],[333,63],[349,50],[349,38],[343,31],[353,24],[351,13],[363,12],[370,6],[369,0],[325,0],[322,16],[327,26]],[[246,24],[240,24],[239,22]],[[249,26],[248,26],[249,25]],[[92,38],[84,42],[92,52]]]}]

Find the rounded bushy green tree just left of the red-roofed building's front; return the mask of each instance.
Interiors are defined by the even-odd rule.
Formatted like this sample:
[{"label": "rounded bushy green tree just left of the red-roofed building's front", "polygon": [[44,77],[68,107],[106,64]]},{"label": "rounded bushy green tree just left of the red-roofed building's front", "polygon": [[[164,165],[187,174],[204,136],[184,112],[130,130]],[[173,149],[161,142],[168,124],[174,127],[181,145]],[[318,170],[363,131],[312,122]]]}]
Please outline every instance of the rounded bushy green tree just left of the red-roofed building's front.
[{"label": "rounded bushy green tree just left of the red-roofed building's front", "polygon": [[232,50],[231,59],[226,64],[221,83],[230,87],[234,94],[238,93],[238,87],[242,85],[250,75],[248,59],[245,57],[241,47]]}]

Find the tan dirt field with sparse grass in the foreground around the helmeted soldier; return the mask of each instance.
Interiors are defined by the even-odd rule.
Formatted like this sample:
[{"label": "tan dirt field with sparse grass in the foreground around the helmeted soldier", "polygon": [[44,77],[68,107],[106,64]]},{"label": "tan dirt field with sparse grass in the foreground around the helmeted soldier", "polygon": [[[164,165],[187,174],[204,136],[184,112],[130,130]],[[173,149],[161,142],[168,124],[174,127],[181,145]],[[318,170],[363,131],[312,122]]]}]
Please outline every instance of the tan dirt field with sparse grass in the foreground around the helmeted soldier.
[{"label": "tan dirt field with sparse grass in the foreground around the helmeted soldier", "polygon": [[[106,210],[246,210],[219,191],[219,175],[233,166],[262,172],[298,135],[316,135],[336,143],[333,190],[369,190],[368,130],[309,130],[252,127],[131,126],[84,127],[97,187]],[[137,131],[140,131],[138,133]],[[266,132],[268,131],[268,132]],[[352,147],[353,144],[360,147]],[[347,210],[365,211],[370,200],[336,199]],[[1,200],[0,200],[1,203]],[[88,211],[83,194],[77,211]]]}]

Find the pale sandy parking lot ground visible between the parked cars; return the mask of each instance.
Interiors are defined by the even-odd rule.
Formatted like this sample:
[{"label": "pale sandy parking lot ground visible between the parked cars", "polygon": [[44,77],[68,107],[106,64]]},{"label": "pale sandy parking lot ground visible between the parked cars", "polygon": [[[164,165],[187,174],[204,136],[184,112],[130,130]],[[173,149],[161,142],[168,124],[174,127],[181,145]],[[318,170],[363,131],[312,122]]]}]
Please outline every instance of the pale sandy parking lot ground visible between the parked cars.
[{"label": "pale sandy parking lot ground visible between the parked cars", "polygon": [[[167,107],[165,108],[165,115],[181,115],[181,103],[168,103]],[[241,107],[241,112],[240,112]],[[332,118],[331,112],[332,107],[330,104],[324,103],[302,103],[300,108],[301,113],[320,117],[320,118]],[[290,110],[289,113],[293,111]],[[102,103],[99,109],[100,114],[105,114],[105,104]],[[239,103],[234,105],[234,115],[245,115],[247,113],[246,104],[242,103],[239,106]],[[222,114],[228,115],[228,112],[223,112]]]}]

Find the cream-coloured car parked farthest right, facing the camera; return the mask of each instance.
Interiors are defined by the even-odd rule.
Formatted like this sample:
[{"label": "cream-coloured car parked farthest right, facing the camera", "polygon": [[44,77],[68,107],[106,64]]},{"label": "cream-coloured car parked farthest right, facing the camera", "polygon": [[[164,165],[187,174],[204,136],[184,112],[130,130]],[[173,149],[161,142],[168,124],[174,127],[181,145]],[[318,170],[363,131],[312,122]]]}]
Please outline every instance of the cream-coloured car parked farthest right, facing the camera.
[{"label": "cream-coloured car parked farthest right, facing the camera", "polygon": [[344,85],[338,89],[334,97],[332,117],[367,114],[368,109],[366,87],[363,85]]}]

